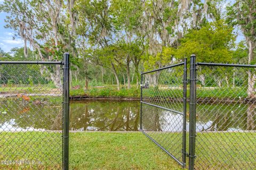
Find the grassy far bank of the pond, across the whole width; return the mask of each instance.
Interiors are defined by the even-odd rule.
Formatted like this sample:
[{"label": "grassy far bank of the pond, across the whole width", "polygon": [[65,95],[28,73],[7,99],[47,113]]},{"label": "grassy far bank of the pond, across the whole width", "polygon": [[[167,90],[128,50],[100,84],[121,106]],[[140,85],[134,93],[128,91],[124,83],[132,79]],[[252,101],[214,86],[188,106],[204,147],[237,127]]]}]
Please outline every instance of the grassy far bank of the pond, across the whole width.
[{"label": "grassy far bank of the pond, across the whole width", "polygon": [[[28,93],[28,94],[58,94],[61,91],[54,91],[52,87],[0,87],[1,92],[7,93]],[[180,98],[182,99],[183,90],[181,88],[161,89],[149,88],[143,89],[143,96],[157,97],[157,98]],[[51,96],[51,95],[50,95]],[[132,87],[126,89],[122,87],[117,90],[115,87],[105,88],[90,88],[89,90],[71,89],[70,96],[81,96],[84,98],[140,98],[140,88]],[[187,89],[187,96],[189,96],[189,88]],[[243,87],[229,87],[229,88],[208,88],[198,87],[197,98],[246,98],[246,88]]]}]

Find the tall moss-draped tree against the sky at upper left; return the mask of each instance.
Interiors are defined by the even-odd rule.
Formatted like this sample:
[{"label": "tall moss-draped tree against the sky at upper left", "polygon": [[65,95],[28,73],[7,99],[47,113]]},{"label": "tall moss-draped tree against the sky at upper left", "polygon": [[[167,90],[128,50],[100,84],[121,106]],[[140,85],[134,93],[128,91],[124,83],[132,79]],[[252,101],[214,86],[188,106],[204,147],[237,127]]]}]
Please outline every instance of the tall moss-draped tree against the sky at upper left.
[{"label": "tall moss-draped tree against the sky at upper left", "polygon": [[[15,31],[14,37],[20,37],[25,43],[24,54],[27,57],[27,43],[36,50],[37,60],[52,61],[62,60],[63,53],[68,50],[71,58],[76,56],[76,46],[74,43],[75,36],[75,15],[71,9],[74,0],[68,1],[71,29],[67,15],[63,13],[66,10],[64,1],[35,1],[35,0],[14,0],[4,1],[0,5],[0,11],[9,13],[6,16],[6,28]],[[71,30],[71,32],[70,32]],[[70,60],[71,63],[74,60]],[[74,66],[73,66],[74,67]],[[62,87],[61,79],[58,76],[60,66],[53,70],[42,67],[44,72],[54,81],[55,86]]]}]

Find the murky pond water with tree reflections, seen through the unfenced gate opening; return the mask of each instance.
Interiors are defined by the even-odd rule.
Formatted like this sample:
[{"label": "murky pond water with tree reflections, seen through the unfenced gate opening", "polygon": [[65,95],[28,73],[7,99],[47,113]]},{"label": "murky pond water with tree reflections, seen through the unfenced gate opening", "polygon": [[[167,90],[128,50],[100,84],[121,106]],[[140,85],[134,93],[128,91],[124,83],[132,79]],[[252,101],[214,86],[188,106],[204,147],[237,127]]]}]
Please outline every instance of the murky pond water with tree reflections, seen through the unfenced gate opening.
[{"label": "murky pond water with tree reflections, seen through the unfenced gate opening", "polygon": [[70,127],[73,130],[138,131],[139,106],[138,101],[74,102],[70,105]]}]

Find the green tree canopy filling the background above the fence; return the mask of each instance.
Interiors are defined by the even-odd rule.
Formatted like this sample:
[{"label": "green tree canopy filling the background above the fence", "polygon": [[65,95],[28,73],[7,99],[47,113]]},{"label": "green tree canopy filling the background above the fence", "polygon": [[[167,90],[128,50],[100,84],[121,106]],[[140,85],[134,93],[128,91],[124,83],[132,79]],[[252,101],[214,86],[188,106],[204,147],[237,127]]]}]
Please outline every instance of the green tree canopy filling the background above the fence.
[{"label": "green tree canopy filling the background above the fence", "polygon": [[[5,1],[0,10],[9,14],[6,28],[30,41],[34,51],[28,48],[25,56],[24,48],[8,54],[0,50],[0,57],[53,61],[62,60],[68,50],[71,85],[82,87],[88,81],[89,86],[139,84],[141,71],[181,62],[193,53],[197,62],[246,63],[249,48],[243,42],[235,46],[233,31],[238,25],[246,40],[255,35],[255,2],[235,1],[227,11],[222,0],[185,2]],[[256,60],[252,57],[250,63]],[[43,77],[55,72],[47,67]],[[26,79],[26,83],[31,82]]]}]

